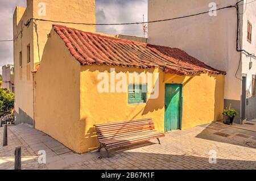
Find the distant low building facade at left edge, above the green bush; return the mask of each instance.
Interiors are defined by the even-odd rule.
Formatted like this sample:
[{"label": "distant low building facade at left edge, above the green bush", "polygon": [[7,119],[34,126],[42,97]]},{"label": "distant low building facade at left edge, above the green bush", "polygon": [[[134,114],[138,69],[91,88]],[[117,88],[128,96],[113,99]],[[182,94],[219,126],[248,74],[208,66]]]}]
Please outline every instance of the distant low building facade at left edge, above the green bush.
[{"label": "distant low building facade at left edge, above the green bush", "polygon": [[14,66],[2,66],[2,87],[14,92]]}]

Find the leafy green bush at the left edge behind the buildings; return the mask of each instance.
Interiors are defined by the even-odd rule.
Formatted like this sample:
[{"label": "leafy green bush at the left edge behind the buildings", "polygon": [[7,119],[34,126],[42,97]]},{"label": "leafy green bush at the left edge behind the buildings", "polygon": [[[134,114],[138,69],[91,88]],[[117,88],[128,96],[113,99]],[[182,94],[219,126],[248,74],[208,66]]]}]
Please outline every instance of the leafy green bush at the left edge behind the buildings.
[{"label": "leafy green bush at the left edge behind the buildings", "polygon": [[0,117],[13,114],[14,94],[13,92],[0,87]]}]

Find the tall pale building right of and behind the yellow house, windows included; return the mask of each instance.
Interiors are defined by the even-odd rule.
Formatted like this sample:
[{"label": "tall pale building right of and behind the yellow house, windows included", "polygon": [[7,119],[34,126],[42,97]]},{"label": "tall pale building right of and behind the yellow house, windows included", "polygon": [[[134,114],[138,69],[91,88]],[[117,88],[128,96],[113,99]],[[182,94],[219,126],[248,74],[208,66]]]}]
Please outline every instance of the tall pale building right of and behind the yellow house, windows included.
[{"label": "tall pale building right of and behind the yellow house, windows included", "polygon": [[[148,24],[148,43],[177,47],[214,68],[226,71],[225,108],[235,108],[236,122],[256,118],[256,3],[208,0],[148,0],[148,21],[201,15]],[[237,11],[238,9],[238,11]],[[237,15],[238,14],[238,15]],[[248,56],[249,52],[252,54]]]}]

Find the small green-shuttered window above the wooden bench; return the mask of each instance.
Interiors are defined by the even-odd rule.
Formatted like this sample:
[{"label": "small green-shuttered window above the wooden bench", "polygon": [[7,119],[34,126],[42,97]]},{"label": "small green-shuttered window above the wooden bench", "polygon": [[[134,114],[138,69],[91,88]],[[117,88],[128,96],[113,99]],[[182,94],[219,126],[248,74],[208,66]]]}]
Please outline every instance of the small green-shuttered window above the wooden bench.
[{"label": "small green-shuttered window above the wooden bench", "polygon": [[147,101],[146,84],[130,84],[128,86],[128,104],[142,104]]}]

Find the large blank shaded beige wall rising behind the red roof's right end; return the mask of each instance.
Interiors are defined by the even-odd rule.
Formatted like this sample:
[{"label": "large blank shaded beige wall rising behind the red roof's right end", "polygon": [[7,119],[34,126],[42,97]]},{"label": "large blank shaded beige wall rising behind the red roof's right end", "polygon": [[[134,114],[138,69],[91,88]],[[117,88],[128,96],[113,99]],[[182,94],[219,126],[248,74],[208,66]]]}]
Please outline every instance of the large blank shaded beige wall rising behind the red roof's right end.
[{"label": "large blank shaded beige wall rising behind the red roof's right end", "polygon": [[[236,0],[148,0],[148,20],[168,19],[236,4]],[[240,53],[236,51],[236,9],[225,9],[217,16],[209,14],[169,22],[148,24],[148,43],[181,48],[206,64],[227,72],[225,99],[241,99],[241,81],[235,77]],[[237,77],[241,77],[241,66]]]}]

